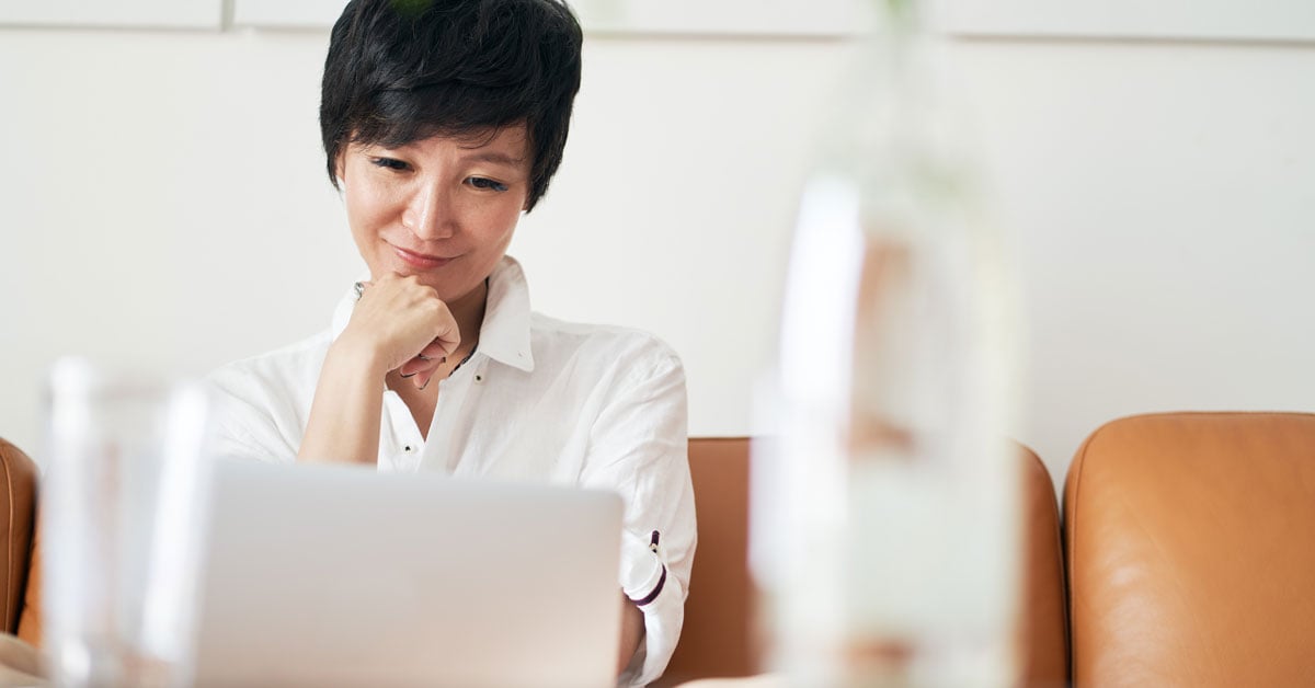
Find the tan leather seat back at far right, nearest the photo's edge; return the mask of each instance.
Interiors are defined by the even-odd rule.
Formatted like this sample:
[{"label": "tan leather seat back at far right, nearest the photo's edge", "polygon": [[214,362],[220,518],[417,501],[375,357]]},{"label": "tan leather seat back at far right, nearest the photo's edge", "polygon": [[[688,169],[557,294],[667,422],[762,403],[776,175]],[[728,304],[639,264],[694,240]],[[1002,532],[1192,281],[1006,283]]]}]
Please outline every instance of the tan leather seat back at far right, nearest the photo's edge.
[{"label": "tan leather seat back at far right, nearest the photo's edge", "polygon": [[1110,422],[1064,514],[1076,685],[1315,685],[1315,416]]}]

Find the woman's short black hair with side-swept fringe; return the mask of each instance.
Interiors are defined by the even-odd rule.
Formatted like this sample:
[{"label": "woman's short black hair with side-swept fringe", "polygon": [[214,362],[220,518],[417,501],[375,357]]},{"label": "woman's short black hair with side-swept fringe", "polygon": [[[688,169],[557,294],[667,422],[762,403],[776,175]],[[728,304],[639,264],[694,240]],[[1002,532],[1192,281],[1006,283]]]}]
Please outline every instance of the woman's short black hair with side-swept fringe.
[{"label": "woman's short black hair with side-swept fringe", "polygon": [[352,142],[397,147],[525,122],[534,208],[562,164],[581,42],[559,0],[351,0],[321,83],[330,182]]}]

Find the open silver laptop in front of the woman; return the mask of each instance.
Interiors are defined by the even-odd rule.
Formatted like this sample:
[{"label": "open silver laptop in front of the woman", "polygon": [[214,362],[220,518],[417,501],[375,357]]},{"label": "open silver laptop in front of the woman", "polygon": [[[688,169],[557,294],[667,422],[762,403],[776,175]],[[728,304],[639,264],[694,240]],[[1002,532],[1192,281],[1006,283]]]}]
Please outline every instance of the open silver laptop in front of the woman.
[{"label": "open silver laptop in front of the woman", "polygon": [[197,685],[615,685],[617,495],[222,460]]}]

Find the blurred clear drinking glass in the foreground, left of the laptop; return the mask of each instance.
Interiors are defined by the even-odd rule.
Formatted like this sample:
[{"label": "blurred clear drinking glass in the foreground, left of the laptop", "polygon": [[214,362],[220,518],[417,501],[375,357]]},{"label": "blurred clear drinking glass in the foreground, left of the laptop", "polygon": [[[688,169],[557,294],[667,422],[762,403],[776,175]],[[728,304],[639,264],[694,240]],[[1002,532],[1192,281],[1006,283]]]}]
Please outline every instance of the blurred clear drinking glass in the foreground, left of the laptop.
[{"label": "blurred clear drinking glass in the foreground, left of the laptop", "polygon": [[45,649],[60,687],[192,681],[210,458],[208,401],[59,360],[42,493]]}]

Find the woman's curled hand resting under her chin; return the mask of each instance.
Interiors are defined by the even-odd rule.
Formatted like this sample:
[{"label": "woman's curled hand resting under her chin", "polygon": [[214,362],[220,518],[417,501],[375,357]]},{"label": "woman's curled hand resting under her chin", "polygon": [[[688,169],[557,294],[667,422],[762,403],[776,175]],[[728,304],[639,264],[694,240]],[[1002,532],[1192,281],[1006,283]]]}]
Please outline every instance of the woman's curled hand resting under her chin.
[{"label": "woman's curled hand resting under her chin", "polygon": [[364,289],[335,346],[355,351],[363,366],[383,376],[397,371],[423,389],[462,333],[447,304],[414,276],[383,275]]}]

